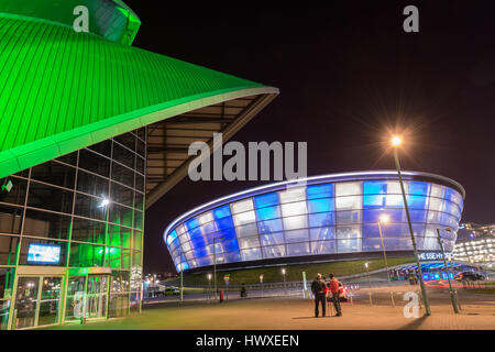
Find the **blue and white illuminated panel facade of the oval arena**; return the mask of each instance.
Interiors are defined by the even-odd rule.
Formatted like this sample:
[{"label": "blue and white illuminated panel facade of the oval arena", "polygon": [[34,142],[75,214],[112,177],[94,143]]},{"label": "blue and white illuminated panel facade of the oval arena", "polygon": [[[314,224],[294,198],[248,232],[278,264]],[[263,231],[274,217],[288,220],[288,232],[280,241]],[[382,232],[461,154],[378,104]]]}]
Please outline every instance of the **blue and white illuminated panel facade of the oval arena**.
[{"label": "blue and white illuminated panel facade of the oval arena", "polygon": [[[437,228],[451,252],[465,196],[447,177],[404,172],[418,251],[438,251]],[[387,252],[410,252],[397,173],[358,172],[284,182],[217,199],[176,219],[164,240],[177,271],[213,264],[284,257],[382,253],[378,219]],[[216,249],[213,251],[213,241]]]}]

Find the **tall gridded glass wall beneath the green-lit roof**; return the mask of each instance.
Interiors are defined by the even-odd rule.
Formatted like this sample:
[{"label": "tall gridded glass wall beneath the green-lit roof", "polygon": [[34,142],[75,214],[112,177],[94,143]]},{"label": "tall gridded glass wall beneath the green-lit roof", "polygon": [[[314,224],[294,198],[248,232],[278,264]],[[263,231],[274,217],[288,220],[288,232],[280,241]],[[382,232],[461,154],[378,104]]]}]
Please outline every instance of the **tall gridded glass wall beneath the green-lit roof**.
[{"label": "tall gridded glass wall beneath the green-lit roof", "polygon": [[10,185],[0,193],[1,329],[141,309],[145,135],[129,132],[0,180]]}]

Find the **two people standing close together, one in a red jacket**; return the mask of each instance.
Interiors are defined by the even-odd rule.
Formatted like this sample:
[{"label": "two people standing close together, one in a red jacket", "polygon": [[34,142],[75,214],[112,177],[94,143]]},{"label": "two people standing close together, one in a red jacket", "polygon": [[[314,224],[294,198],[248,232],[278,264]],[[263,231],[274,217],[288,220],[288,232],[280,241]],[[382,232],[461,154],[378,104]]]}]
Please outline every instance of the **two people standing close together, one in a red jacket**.
[{"label": "two people standing close together, one in a red jacket", "polygon": [[339,280],[333,274],[329,274],[329,282],[324,280],[324,277],[318,273],[317,277],[311,284],[311,292],[315,296],[315,318],[318,318],[319,306],[321,304],[321,317],[327,315],[327,299],[333,301],[336,307],[337,317],[342,317],[342,309],[340,307],[339,299]]}]

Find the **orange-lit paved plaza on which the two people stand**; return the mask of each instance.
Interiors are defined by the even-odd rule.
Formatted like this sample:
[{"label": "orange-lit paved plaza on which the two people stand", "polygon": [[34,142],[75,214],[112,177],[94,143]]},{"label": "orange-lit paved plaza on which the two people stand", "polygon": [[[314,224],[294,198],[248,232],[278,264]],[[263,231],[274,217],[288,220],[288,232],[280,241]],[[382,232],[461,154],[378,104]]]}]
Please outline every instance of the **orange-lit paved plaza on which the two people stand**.
[{"label": "orange-lit paved plaza on which the two people stand", "polygon": [[[396,295],[406,292],[397,289]],[[386,297],[389,289],[376,289],[376,304],[369,305],[367,293],[353,305],[343,304],[343,317],[314,318],[312,300],[246,299],[227,304],[158,307],[143,310],[141,316],[116,319],[85,326],[65,326],[56,329],[158,329],[158,330],[395,330],[395,329],[495,329],[495,296],[461,294],[462,311],[454,315],[449,296],[443,290],[430,292],[432,315],[405,318],[405,301],[392,307]],[[380,298],[382,295],[382,298]]]}]

